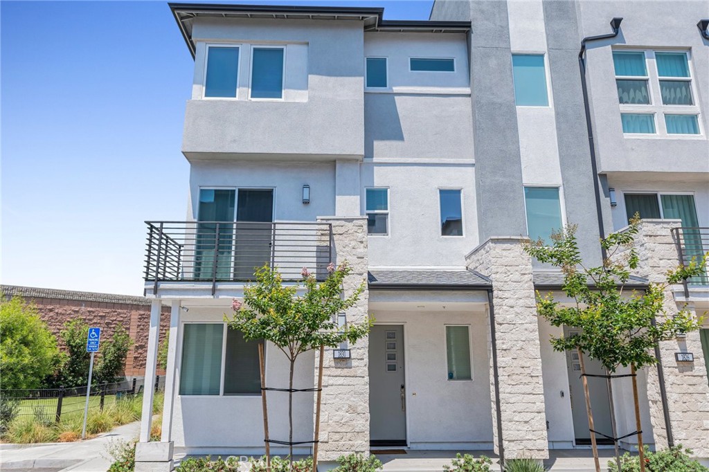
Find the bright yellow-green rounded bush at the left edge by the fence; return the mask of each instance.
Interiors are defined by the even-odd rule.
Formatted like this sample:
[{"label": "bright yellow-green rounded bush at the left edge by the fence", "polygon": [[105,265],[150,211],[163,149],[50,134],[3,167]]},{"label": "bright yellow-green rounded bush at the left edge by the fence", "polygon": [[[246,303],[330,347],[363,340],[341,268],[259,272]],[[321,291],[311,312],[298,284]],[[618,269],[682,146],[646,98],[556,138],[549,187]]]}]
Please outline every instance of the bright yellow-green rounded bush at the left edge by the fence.
[{"label": "bright yellow-green rounded bush at the left edge by the fence", "polygon": [[58,362],[57,341],[35,305],[0,296],[0,387],[38,388]]}]

